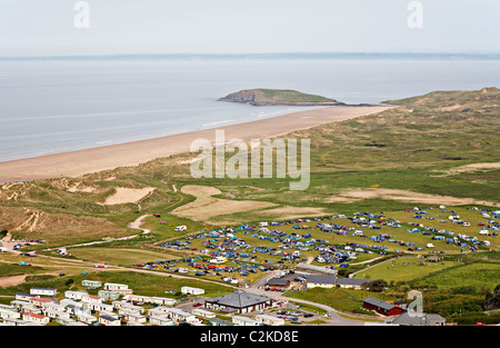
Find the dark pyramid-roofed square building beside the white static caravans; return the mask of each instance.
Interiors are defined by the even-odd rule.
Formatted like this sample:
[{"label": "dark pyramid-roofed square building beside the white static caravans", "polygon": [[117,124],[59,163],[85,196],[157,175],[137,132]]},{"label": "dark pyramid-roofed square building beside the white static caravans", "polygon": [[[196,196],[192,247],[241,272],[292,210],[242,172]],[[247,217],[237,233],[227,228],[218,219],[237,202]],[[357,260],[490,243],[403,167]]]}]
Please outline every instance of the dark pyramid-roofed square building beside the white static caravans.
[{"label": "dark pyramid-roofed square building beside the white static caravans", "polygon": [[261,310],[269,306],[271,306],[269,297],[248,294],[243,290],[236,290],[204,301],[204,307],[208,309],[237,314]]}]

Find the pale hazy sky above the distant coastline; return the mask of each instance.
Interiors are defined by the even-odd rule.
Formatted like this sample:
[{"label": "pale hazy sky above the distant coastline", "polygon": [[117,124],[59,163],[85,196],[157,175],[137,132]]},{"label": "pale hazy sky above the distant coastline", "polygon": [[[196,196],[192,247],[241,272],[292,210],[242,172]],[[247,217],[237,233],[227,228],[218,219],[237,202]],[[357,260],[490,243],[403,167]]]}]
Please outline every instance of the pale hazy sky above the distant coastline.
[{"label": "pale hazy sky above the distant coastline", "polygon": [[0,56],[500,52],[500,0],[0,0]]}]

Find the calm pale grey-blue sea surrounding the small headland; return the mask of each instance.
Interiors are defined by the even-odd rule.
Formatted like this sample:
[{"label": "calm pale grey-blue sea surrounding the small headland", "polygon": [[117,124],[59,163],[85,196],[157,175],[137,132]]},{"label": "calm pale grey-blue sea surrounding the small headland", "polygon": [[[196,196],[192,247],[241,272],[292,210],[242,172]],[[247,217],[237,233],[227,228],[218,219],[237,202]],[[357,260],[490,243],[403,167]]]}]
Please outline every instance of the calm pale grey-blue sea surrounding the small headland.
[{"label": "calm pale grey-blue sea surrounding the small headland", "polygon": [[500,59],[0,60],[0,161],[152,139],[307,110],[217,101],[293,89],[346,103],[500,87]]}]

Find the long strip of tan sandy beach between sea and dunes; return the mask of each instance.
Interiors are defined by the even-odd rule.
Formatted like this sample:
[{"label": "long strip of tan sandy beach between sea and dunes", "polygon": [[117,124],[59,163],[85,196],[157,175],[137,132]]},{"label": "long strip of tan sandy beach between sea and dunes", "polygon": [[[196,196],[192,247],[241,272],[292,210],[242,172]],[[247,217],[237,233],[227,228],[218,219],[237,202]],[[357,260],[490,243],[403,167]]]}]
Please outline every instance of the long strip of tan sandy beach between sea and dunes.
[{"label": "long strip of tan sandy beach between sea and dunes", "polygon": [[[336,106],[299,111],[252,122],[219,127],[229,139],[262,139],[307,129],[329,122],[377,113],[390,106]],[[29,181],[60,177],[80,177],[118,167],[137,166],[156,158],[189,152],[192,140],[216,141],[214,129],[206,129],[162,138],[54,153],[42,157],[0,162],[0,181]]]}]

